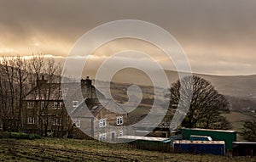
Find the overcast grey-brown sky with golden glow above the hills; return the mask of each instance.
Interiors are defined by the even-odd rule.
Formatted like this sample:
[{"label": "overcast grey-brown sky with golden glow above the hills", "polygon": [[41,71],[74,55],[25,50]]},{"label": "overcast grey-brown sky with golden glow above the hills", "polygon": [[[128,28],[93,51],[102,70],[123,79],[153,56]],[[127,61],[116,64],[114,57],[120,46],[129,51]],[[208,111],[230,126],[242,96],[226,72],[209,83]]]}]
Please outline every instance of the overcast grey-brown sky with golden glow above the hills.
[{"label": "overcast grey-brown sky with golden glow above the hills", "polygon": [[[64,60],[80,36],[96,26],[143,20],[174,36],[193,72],[252,75],[256,74],[255,8],[255,0],[0,0],[0,56],[45,53]],[[154,47],[144,42],[126,41],[131,48],[140,45],[148,53],[157,51],[148,50]],[[110,43],[92,61],[100,64],[115,51],[113,47],[127,42]]]}]

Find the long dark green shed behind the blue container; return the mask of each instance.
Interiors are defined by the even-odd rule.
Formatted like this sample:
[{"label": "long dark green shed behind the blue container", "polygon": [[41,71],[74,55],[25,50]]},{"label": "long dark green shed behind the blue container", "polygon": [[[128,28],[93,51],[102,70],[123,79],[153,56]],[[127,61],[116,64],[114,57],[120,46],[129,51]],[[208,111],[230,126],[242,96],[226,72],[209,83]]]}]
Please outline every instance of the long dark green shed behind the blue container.
[{"label": "long dark green shed behind the blue container", "polygon": [[191,135],[196,135],[212,137],[212,141],[224,141],[227,150],[232,150],[232,142],[236,142],[236,131],[182,128],[181,134],[183,140],[189,140]]}]

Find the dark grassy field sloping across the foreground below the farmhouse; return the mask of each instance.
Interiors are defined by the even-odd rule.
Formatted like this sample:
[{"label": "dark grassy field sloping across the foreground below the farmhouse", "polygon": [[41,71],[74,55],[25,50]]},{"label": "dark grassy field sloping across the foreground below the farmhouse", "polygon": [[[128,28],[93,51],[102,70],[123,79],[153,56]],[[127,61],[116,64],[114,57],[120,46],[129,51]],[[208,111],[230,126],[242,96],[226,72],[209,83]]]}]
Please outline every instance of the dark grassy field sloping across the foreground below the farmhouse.
[{"label": "dark grassy field sloping across the foreground below the farmhouse", "polygon": [[0,139],[0,161],[255,161],[248,157],[165,154],[94,140],[44,138]]}]

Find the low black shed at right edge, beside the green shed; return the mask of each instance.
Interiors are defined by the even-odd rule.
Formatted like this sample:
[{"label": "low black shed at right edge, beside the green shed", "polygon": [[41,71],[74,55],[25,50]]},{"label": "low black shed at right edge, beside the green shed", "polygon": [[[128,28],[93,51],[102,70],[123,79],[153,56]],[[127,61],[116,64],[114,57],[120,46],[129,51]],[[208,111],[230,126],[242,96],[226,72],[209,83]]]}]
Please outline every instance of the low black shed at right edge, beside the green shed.
[{"label": "low black shed at right edge, beside the green shed", "polygon": [[233,142],[233,156],[255,156],[256,142]]}]

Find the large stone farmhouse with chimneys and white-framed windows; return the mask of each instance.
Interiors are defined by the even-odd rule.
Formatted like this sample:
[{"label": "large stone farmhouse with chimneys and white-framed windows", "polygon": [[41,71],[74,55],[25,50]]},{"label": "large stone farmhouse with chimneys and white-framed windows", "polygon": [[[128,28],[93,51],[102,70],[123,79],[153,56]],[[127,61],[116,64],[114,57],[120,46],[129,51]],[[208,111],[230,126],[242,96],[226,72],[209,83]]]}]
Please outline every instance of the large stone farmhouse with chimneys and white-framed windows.
[{"label": "large stone farmhouse with chimneys and white-framed windows", "polygon": [[[67,85],[62,89],[61,83],[49,83],[44,76],[37,81],[24,100],[21,122],[25,132],[51,137],[89,136],[100,140],[114,140],[126,133],[122,130],[127,120],[125,109],[97,92],[89,77],[81,83],[64,84]],[[78,97],[79,92],[83,98]],[[99,102],[96,92],[103,102]],[[70,104],[64,104],[67,93],[72,100]],[[105,107],[119,109],[121,113]],[[112,129],[113,126],[119,129]]]}]

